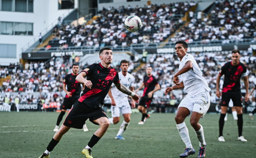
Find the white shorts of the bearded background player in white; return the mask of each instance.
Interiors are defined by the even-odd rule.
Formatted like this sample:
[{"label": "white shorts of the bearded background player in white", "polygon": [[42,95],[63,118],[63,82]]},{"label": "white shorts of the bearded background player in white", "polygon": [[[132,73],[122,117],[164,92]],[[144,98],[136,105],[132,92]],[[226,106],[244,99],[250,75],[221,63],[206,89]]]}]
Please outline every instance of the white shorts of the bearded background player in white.
[{"label": "white shorts of the bearded background player in white", "polygon": [[124,114],[131,114],[132,110],[129,104],[129,101],[123,101],[121,103],[116,103],[116,106],[111,105],[111,114],[112,117],[120,117],[120,113]]}]

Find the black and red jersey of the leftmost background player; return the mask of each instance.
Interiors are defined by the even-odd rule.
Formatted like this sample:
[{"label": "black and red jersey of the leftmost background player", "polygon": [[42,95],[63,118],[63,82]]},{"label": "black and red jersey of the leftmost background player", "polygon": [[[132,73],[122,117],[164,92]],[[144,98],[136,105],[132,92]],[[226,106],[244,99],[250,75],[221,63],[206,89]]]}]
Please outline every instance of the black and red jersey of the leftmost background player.
[{"label": "black and red jersey of the leftmost background player", "polygon": [[[65,76],[63,81],[63,84],[67,85],[67,90],[71,92],[72,97],[79,97],[81,93],[81,83],[76,81],[77,75],[73,75],[73,73],[70,73]],[[65,98],[68,98],[68,95],[66,95]]]}]

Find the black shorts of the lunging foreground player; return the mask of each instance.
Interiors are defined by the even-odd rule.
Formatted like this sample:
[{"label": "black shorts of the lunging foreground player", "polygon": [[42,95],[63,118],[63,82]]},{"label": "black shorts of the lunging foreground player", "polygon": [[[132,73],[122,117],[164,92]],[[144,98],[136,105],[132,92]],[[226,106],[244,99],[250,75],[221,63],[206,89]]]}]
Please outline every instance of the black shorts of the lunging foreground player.
[{"label": "black shorts of the lunging foreground player", "polygon": [[93,120],[99,119],[101,117],[108,118],[101,107],[95,109],[85,105],[84,103],[81,103],[80,101],[77,101],[69,111],[63,124],[68,127],[82,129],[84,122],[87,119],[89,119],[92,123],[99,125]]}]

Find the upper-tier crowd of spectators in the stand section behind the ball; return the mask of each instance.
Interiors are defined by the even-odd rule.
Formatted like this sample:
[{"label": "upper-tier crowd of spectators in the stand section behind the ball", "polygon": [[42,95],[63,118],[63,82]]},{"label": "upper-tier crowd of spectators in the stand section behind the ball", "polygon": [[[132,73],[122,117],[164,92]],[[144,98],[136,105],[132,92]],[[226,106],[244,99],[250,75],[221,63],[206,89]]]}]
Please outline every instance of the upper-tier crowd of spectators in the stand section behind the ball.
[{"label": "upper-tier crowd of spectators in the stand section behind the ball", "polygon": [[[120,6],[118,8],[103,8],[98,18],[86,25],[61,25],[55,26],[52,32],[52,40],[48,48],[94,46],[113,47],[129,46],[138,43],[159,43],[178,30],[184,22],[182,17],[192,6],[193,1],[176,2],[170,4],[152,4],[149,6],[131,8]],[[128,32],[124,27],[124,20],[129,15],[137,15],[142,20],[142,28],[139,32]],[[176,18],[175,18],[176,17]]]}]

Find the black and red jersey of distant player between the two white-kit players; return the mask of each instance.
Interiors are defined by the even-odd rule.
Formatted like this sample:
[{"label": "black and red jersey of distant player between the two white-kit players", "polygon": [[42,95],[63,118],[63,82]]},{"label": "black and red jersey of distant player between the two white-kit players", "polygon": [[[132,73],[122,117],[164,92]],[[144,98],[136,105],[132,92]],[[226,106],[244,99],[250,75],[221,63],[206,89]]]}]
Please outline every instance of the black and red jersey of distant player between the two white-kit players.
[{"label": "black and red jersey of distant player between the two white-kit players", "polygon": [[155,89],[156,85],[158,84],[158,81],[157,81],[156,77],[154,77],[153,75],[151,75],[150,77],[148,77],[148,75],[146,75],[146,76],[144,76],[143,83],[144,83],[143,96],[145,96],[145,95],[147,96],[150,91],[153,91]]}]

